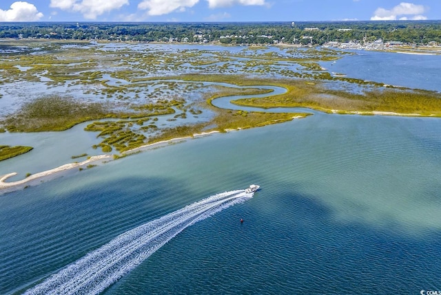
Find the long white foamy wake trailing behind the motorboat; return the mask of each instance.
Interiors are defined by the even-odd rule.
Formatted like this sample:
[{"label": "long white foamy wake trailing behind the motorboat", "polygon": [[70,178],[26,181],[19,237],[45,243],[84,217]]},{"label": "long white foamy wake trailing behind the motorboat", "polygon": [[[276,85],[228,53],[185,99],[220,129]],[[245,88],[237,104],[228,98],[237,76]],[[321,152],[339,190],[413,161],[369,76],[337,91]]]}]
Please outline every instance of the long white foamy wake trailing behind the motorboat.
[{"label": "long white foamy wake trailing behind the motorboat", "polygon": [[25,294],[99,294],[188,226],[252,196],[245,190],[232,190],[144,223],[68,265]]}]

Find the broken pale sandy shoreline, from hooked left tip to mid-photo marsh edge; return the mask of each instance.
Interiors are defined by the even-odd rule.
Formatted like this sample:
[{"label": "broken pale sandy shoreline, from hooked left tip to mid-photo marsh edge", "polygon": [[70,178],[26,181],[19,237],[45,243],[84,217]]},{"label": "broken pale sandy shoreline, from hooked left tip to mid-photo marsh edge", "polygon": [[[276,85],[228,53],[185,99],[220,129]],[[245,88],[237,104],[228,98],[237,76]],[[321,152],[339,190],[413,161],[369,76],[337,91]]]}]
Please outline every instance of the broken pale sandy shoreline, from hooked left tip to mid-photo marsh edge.
[{"label": "broken pale sandy shoreline, from hooked left tip to mid-photo marsh edge", "polygon": [[[121,154],[122,155],[132,155],[132,154],[140,152],[140,151],[145,151],[145,150],[151,148],[152,146],[161,146],[162,144],[170,144],[171,142],[177,142],[180,140],[199,138],[199,137],[211,135],[213,133],[220,133],[220,131],[194,133],[191,136],[185,136],[182,138],[172,138],[170,140],[162,140],[160,142],[154,142],[151,144],[145,144],[143,146],[136,147],[136,148],[131,149],[129,151],[125,151]],[[22,188],[22,186],[23,186],[23,188],[25,188],[28,185],[32,185],[31,184],[32,182],[39,180],[39,179],[41,180],[41,182],[43,182],[43,179],[45,179],[46,177],[49,177],[50,175],[57,175],[63,171],[72,170],[73,168],[81,168],[82,166],[85,166],[86,164],[91,164],[94,162],[100,162],[101,164],[103,164],[104,162],[110,162],[110,161],[114,161],[113,155],[108,155],[108,154],[94,155],[94,156],[90,157],[88,160],[85,160],[83,162],[72,162],[72,163],[68,163],[68,164],[63,164],[63,165],[58,166],[56,168],[52,168],[52,169],[49,169],[46,171],[41,171],[39,173],[32,174],[28,177],[25,177],[24,179],[20,179],[20,180],[14,181],[14,182],[6,182],[6,180],[14,175],[17,175],[17,172],[12,172],[12,173],[8,173],[8,174],[0,175],[0,195],[3,193],[10,193],[14,190],[19,190],[20,188]],[[39,184],[39,183],[37,183],[37,184]],[[33,184],[33,185],[37,185],[37,184]]]}]

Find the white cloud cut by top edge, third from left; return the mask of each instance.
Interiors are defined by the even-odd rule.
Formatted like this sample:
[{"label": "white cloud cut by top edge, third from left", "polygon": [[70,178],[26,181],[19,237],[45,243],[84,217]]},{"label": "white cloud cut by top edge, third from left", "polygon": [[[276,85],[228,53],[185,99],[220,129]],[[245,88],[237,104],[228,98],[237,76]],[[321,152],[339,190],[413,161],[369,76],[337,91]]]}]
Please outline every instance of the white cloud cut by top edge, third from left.
[{"label": "white cloud cut by top edge, third from left", "polygon": [[138,4],[138,8],[148,10],[149,15],[162,15],[174,11],[183,12],[198,2],[199,0],[144,0]]}]

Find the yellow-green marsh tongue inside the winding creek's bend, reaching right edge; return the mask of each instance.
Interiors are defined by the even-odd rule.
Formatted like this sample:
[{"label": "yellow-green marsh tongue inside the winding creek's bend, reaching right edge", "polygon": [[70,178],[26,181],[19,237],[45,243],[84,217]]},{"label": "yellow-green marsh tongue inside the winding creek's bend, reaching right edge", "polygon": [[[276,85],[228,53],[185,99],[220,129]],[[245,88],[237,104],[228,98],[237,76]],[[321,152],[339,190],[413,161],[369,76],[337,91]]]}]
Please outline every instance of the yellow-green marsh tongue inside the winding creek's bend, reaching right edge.
[{"label": "yellow-green marsh tongue inside the winding creek's bend, reaching right edge", "polygon": [[419,89],[394,89],[367,87],[362,94],[340,89],[327,89],[320,81],[278,80],[286,94],[265,98],[234,100],[236,105],[248,107],[308,107],[321,111],[340,113],[387,111],[420,116],[441,116],[441,94]]}]

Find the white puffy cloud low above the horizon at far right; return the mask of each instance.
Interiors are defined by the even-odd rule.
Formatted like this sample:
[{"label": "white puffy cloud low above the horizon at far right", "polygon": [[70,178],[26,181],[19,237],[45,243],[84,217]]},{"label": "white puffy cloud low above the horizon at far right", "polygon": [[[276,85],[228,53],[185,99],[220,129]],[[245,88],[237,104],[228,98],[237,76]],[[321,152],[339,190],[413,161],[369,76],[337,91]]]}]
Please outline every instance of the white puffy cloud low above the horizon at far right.
[{"label": "white puffy cloud low above the horizon at far right", "polygon": [[[374,12],[374,16],[371,17],[371,21],[395,21],[396,19],[407,20],[421,20],[427,19],[422,14],[427,9],[422,5],[416,5],[413,3],[401,2],[398,6],[393,7],[391,10],[384,9],[382,7],[377,8]],[[400,16],[411,15],[413,17],[400,17]]]}]

